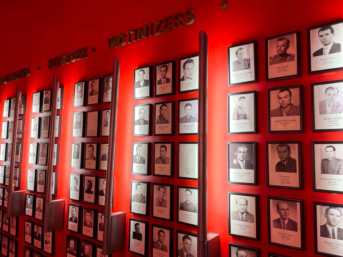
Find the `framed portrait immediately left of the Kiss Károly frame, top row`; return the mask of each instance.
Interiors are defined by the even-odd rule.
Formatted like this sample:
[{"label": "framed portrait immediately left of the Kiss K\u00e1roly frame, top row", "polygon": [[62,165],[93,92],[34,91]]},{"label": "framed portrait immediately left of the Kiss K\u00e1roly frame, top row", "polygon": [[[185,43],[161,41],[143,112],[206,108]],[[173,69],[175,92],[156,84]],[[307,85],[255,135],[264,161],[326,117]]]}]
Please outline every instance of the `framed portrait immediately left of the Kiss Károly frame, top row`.
[{"label": "framed portrait immediately left of the Kiss K\u00e1roly frame, top row", "polygon": [[257,83],[256,41],[228,47],[227,58],[229,86]]}]

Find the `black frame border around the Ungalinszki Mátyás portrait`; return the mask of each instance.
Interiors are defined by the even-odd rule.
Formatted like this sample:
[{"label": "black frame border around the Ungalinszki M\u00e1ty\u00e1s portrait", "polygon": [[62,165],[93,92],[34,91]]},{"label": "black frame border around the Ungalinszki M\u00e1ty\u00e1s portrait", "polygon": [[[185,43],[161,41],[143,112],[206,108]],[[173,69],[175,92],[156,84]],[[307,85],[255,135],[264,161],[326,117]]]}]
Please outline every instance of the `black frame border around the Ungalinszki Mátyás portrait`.
[{"label": "black frame border around the Ungalinszki M\u00e1ty\u00e1s portrait", "polygon": [[[292,88],[299,88],[299,109],[300,109],[300,130],[271,130],[271,110],[270,110],[270,92],[277,91],[282,89],[292,89]],[[303,86],[296,85],[296,86],[289,86],[289,87],[275,87],[275,88],[268,88],[267,89],[267,105],[268,105],[268,133],[301,133],[304,132],[304,114],[303,114]],[[292,117],[292,116],[287,116]]]}]

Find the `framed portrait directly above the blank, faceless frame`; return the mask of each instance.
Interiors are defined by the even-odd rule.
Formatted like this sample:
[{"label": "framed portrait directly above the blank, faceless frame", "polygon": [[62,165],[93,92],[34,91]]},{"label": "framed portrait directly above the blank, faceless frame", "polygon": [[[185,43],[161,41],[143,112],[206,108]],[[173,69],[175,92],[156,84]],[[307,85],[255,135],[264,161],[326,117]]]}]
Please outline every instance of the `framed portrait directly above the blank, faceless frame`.
[{"label": "framed portrait directly above the blank, faceless frame", "polygon": [[179,100],[178,134],[198,134],[198,98]]}]

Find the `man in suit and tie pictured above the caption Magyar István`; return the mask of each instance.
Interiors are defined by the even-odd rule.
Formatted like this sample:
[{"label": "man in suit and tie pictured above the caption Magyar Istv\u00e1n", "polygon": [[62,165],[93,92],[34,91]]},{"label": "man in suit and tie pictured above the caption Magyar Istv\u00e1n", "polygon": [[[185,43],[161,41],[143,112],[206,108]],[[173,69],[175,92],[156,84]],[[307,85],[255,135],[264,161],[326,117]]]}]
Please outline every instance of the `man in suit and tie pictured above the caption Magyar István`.
[{"label": "man in suit and tie pictured above the caption Magyar Istv\u00e1n", "polygon": [[343,229],[338,227],[342,218],[342,208],[329,206],[325,209],[326,223],[320,226],[320,236],[343,240]]}]

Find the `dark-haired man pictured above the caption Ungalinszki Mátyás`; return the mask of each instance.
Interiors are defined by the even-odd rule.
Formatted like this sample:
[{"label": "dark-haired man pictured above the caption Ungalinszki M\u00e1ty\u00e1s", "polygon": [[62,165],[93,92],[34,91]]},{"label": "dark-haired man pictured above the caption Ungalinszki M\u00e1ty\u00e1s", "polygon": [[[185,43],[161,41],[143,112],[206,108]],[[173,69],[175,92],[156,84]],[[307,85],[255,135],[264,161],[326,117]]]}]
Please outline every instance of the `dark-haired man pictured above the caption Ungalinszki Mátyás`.
[{"label": "dark-haired man pictured above the caption Ungalinszki M\u00e1ty\u00e1s", "polygon": [[277,93],[280,107],[270,111],[270,117],[300,116],[300,106],[293,105],[292,91],[283,88]]}]

